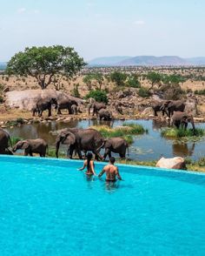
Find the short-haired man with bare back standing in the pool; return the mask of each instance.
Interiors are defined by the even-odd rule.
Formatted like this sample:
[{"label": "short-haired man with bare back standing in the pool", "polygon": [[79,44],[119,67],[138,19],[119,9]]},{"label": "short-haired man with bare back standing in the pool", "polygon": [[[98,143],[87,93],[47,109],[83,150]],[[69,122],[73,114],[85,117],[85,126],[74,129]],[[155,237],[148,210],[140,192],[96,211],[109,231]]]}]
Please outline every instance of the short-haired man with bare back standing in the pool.
[{"label": "short-haired man with bare back standing in the pool", "polygon": [[106,181],[107,182],[115,182],[116,181],[116,177],[117,179],[122,180],[118,167],[115,166],[116,162],[116,158],[109,158],[109,165],[104,166],[104,168],[102,169],[102,172],[99,173],[98,177],[102,177],[102,175],[104,174],[104,172],[106,172]]}]

